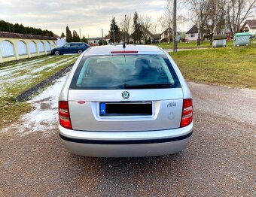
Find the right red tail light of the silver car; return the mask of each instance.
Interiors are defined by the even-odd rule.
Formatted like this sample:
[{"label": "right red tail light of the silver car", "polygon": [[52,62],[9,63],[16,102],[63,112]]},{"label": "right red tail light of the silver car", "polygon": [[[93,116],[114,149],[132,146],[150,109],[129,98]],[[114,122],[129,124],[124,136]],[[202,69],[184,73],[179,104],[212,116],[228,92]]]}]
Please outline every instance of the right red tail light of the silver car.
[{"label": "right red tail light of the silver car", "polygon": [[181,117],[181,127],[188,126],[193,119],[193,104],[192,99],[183,100],[183,109]]}]

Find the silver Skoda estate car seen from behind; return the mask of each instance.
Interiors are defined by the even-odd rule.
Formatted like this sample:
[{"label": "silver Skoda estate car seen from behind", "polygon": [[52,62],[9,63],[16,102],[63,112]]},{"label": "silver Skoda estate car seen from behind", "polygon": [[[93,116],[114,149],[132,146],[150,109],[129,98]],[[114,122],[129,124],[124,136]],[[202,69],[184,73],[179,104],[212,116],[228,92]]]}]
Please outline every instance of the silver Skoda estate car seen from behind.
[{"label": "silver Skoda estate car seen from behind", "polygon": [[60,92],[59,136],[83,156],[160,156],[187,147],[192,115],[190,90],[164,50],[91,47]]}]

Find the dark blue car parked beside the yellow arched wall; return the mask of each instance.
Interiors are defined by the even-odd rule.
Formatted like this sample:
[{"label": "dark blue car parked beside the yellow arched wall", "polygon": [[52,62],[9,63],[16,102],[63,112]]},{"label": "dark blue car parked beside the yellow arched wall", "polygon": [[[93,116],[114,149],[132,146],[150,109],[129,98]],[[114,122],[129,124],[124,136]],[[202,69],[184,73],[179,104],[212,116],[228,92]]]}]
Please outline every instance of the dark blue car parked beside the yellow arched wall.
[{"label": "dark blue car parked beside the yellow arched wall", "polygon": [[69,42],[63,45],[62,47],[54,48],[53,50],[51,50],[51,53],[56,56],[68,53],[81,54],[84,52],[84,50],[87,50],[89,47],[90,45],[84,42]]}]

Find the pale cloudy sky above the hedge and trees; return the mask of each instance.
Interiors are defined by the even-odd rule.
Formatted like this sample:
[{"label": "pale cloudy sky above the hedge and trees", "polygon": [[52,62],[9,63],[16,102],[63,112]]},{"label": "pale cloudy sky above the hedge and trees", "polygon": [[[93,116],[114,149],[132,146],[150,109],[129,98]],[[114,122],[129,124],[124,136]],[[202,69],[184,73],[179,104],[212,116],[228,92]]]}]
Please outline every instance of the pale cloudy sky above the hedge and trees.
[{"label": "pale cloudy sky above the hedge and trees", "polygon": [[[22,23],[24,26],[49,29],[57,35],[64,32],[66,26],[76,30],[85,37],[101,37],[108,34],[110,20],[115,17],[120,22],[124,14],[133,16],[137,11],[139,15],[147,15],[157,23],[163,15],[165,0],[0,0],[0,20],[9,23]],[[182,24],[178,31],[189,28]],[[157,32],[162,32],[160,24]]]}]

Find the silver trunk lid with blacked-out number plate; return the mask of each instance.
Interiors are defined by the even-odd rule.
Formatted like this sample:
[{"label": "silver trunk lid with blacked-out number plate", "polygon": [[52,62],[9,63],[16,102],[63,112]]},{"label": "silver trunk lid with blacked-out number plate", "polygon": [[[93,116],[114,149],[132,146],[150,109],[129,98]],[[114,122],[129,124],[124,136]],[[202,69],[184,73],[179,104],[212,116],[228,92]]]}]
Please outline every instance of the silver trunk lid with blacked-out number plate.
[{"label": "silver trunk lid with blacked-out number plate", "polygon": [[[123,92],[129,93],[128,99]],[[182,105],[181,88],[69,89],[72,128],[81,131],[175,129],[180,127]]]}]

